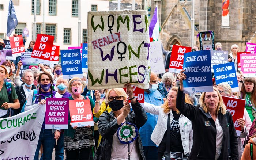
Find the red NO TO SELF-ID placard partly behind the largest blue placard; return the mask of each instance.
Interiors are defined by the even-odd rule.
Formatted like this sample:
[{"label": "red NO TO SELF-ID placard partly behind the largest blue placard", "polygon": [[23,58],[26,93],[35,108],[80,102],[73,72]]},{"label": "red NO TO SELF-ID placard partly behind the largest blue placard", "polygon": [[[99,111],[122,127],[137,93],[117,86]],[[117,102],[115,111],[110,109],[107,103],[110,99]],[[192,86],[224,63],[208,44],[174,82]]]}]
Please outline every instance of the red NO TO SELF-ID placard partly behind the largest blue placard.
[{"label": "red NO TO SELF-ID placard partly behind the largest blue placard", "polygon": [[173,46],[170,58],[169,72],[180,73],[183,68],[184,53],[191,52],[191,47]]}]

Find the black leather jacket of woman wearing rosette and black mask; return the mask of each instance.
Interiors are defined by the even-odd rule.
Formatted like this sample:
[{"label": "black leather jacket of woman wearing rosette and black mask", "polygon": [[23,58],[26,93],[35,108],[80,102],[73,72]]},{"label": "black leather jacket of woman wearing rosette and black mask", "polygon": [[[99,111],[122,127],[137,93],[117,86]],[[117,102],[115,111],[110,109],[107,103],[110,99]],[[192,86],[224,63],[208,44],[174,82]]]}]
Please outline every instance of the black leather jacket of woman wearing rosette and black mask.
[{"label": "black leather jacket of woman wearing rosette and black mask", "polygon": [[[127,117],[126,122],[130,122],[139,129],[142,127],[147,121],[147,114],[145,113],[143,107],[137,101],[137,103],[132,104],[133,111],[131,111]],[[112,141],[113,135],[117,132],[118,128],[121,125],[117,124],[117,119],[114,118],[114,113],[107,111],[103,112],[99,117],[99,133],[102,136],[101,143],[95,153],[94,159],[99,160],[110,160],[111,158],[111,149],[112,149]],[[137,145],[139,145],[140,149],[140,159],[145,159],[142,142],[140,140],[140,134],[138,130],[138,138]],[[127,151],[128,152],[128,151]]]}]

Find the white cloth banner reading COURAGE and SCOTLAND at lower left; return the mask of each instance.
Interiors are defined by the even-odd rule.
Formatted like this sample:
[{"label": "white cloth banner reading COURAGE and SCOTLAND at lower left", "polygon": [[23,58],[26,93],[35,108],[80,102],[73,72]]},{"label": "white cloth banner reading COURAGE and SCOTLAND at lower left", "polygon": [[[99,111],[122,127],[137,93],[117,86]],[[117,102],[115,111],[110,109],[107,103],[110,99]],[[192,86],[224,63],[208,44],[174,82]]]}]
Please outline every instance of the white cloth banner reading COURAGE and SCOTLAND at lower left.
[{"label": "white cloth banner reading COURAGE and SCOTLAND at lower left", "polygon": [[45,105],[18,115],[0,118],[0,159],[34,159],[45,117]]}]

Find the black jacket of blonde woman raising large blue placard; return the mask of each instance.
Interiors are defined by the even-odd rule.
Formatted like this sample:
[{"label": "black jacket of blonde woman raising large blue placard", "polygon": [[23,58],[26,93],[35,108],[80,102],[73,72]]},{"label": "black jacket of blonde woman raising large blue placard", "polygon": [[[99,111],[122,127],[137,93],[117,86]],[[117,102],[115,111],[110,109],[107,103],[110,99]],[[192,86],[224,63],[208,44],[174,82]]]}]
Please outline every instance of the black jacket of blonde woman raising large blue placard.
[{"label": "black jacket of blonde woman raising large blue placard", "polygon": [[[205,113],[202,107],[185,103],[185,94],[180,90],[177,94],[176,108],[192,121],[193,146],[189,159],[215,159],[216,126],[210,113]],[[237,160],[238,142],[232,115],[228,111],[226,115],[219,112],[218,119],[223,130],[221,154],[218,159],[228,159],[230,142],[232,159]]]}]

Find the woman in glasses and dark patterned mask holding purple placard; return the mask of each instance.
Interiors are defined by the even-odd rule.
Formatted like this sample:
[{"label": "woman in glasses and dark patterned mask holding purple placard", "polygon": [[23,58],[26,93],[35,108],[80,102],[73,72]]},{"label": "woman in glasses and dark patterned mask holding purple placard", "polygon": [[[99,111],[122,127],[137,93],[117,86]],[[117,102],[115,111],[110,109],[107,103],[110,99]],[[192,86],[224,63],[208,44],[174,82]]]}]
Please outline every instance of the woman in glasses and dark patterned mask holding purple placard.
[{"label": "woman in glasses and dark patterned mask holding purple placard", "polygon": [[[40,73],[38,77],[38,83],[39,83],[39,90],[33,90],[33,92],[30,92],[29,97],[27,98],[27,103],[25,105],[24,110],[30,110],[34,107],[37,107],[39,105],[46,104],[46,98],[55,98],[56,92],[53,91],[52,84],[53,79],[52,76],[49,73],[43,72]],[[35,151],[35,157],[34,159],[38,159],[39,150],[41,147],[41,144],[43,145],[43,159],[51,159],[52,158],[52,152],[55,144],[55,139],[59,139],[60,137],[60,131],[56,130],[55,134],[52,133],[54,130],[45,129],[45,119],[42,124],[41,132],[39,135],[39,140],[37,144],[37,150]]]}]

